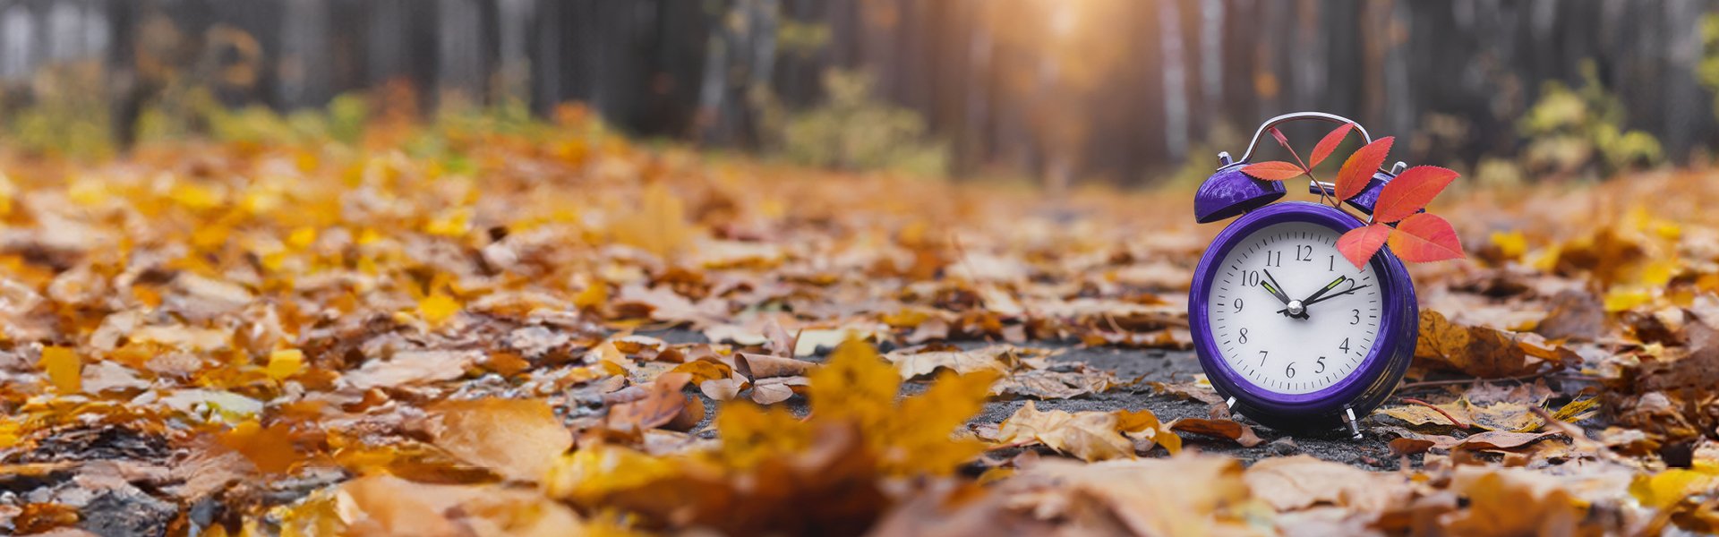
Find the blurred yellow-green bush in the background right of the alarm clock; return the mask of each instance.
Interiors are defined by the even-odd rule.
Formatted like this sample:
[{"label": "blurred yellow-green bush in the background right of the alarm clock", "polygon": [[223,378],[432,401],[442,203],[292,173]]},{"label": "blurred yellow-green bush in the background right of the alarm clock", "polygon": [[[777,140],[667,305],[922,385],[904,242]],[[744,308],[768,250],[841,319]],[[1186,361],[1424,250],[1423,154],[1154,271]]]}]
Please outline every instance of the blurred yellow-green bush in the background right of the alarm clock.
[{"label": "blurred yellow-green bush in the background right of the alarm clock", "polygon": [[1549,81],[1516,124],[1528,138],[1523,164],[1532,172],[1578,174],[1597,167],[1612,172],[1664,160],[1659,139],[1626,131],[1624,108],[1606,91],[1592,60],[1581,64],[1581,86]]}]

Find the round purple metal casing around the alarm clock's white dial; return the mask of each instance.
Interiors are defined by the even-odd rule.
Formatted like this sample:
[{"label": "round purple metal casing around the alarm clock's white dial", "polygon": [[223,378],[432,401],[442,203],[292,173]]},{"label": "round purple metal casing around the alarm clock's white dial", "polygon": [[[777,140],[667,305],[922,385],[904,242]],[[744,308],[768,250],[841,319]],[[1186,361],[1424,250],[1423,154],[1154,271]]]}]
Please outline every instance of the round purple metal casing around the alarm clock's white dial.
[{"label": "round purple metal casing around the alarm clock's white dial", "polygon": [[1306,201],[1286,201],[1265,205],[1248,212],[1239,220],[1224,227],[1207,248],[1205,256],[1195,268],[1193,287],[1188,293],[1188,315],[1193,332],[1195,351],[1200,355],[1200,367],[1205,368],[1212,387],[1226,399],[1234,398],[1233,410],[1260,423],[1277,429],[1318,429],[1341,425],[1344,408],[1351,408],[1356,417],[1384,403],[1403,380],[1403,372],[1415,355],[1420,339],[1420,308],[1415,298],[1415,282],[1410,279],[1403,262],[1389,248],[1379,250],[1373,256],[1373,268],[1380,274],[1380,298],[1384,306],[1379,324],[1377,344],[1367,355],[1355,373],[1325,389],[1306,394],[1281,394],[1255,386],[1243,379],[1222,360],[1217,343],[1212,339],[1207,320],[1207,301],[1210,282],[1217,277],[1217,265],[1236,246],[1236,241],[1267,225],[1286,222],[1320,224],[1337,232],[1363,225],[1361,220],[1327,205]]}]

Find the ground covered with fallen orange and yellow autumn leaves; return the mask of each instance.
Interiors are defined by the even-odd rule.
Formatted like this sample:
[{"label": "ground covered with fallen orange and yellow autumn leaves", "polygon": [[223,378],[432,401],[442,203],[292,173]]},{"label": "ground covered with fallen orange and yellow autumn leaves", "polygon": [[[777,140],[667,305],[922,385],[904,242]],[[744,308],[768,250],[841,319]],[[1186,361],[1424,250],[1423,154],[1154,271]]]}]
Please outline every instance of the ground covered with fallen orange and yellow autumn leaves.
[{"label": "ground covered with fallen orange and yellow autumn leaves", "polygon": [[1453,186],[1367,439],[1214,408],[1190,193],[554,127],[0,151],[0,527],[103,535],[1719,528],[1719,181]]}]

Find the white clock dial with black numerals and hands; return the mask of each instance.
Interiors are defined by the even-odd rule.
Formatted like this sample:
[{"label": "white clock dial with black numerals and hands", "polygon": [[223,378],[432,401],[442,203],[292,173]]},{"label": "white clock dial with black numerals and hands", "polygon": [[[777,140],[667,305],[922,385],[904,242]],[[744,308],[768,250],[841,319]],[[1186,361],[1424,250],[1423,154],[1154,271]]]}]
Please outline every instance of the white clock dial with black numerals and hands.
[{"label": "white clock dial with black numerals and hands", "polygon": [[1207,320],[1224,363],[1279,394],[1337,384],[1379,341],[1382,299],[1372,263],[1337,253],[1339,232],[1277,224],[1236,241],[1212,277]]}]

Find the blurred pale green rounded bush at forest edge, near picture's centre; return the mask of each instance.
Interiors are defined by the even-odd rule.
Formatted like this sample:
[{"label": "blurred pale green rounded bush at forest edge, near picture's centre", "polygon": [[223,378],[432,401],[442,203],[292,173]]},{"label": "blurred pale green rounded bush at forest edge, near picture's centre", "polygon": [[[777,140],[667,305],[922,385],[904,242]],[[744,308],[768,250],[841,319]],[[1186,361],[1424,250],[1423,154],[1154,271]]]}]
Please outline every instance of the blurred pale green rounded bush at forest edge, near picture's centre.
[{"label": "blurred pale green rounded bush at forest edge, near picture's centre", "polygon": [[947,172],[947,145],[928,134],[920,114],[877,100],[870,74],[830,71],[823,90],[823,105],[784,120],[775,141],[782,157],[849,170]]}]

